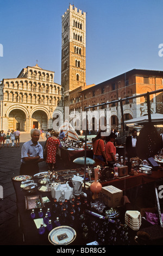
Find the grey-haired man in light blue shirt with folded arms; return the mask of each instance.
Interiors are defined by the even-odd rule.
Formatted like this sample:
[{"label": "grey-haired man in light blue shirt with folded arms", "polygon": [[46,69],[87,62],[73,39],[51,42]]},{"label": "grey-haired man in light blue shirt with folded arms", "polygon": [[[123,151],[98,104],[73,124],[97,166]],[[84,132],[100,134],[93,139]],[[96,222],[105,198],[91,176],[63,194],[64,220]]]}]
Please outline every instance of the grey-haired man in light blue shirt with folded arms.
[{"label": "grey-haired man in light blue shirt with folded arms", "polygon": [[40,131],[30,131],[31,140],[22,145],[20,175],[34,175],[39,173],[39,162],[43,161],[43,149],[38,142]]}]

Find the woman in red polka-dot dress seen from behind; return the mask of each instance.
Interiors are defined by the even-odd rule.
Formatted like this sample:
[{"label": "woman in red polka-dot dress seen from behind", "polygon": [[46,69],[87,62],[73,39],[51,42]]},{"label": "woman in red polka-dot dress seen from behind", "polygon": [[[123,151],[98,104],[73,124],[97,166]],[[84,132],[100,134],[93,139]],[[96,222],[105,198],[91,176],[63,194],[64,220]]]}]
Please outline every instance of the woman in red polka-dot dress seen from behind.
[{"label": "woman in red polka-dot dress seen from behind", "polygon": [[49,165],[49,169],[54,169],[54,164],[56,163],[56,154],[57,149],[59,147],[59,139],[57,138],[59,135],[58,132],[51,131],[51,137],[48,137],[45,150],[47,152],[46,162]]}]

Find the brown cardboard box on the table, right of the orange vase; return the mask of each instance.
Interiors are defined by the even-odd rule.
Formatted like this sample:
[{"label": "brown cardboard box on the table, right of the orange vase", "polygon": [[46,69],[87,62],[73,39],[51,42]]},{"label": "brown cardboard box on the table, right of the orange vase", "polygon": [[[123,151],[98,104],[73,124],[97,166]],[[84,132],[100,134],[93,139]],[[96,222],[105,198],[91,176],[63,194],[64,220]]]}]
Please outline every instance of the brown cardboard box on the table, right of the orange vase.
[{"label": "brown cardboard box on the table, right of the orange vase", "polygon": [[112,208],[122,205],[121,200],[123,191],[119,190],[117,187],[111,185],[102,187],[102,194],[103,202],[105,205],[108,205]]}]

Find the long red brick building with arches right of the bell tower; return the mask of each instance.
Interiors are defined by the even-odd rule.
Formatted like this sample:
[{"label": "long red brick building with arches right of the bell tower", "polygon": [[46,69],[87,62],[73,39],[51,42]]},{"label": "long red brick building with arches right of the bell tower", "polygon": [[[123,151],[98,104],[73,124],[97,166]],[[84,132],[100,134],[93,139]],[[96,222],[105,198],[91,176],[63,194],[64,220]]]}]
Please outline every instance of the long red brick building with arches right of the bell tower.
[{"label": "long red brick building with arches right of the bell tower", "polygon": [[[69,94],[70,120],[78,115],[78,119],[80,116],[80,126],[82,126],[81,120],[84,118],[82,117],[82,115],[84,116],[82,113],[85,107],[96,106],[105,102],[162,89],[162,78],[163,71],[133,69],[96,85],[92,84],[91,86],[78,87]],[[163,113],[162,93],[151,95],[150,102],[151,113]],[[96,106],[90,108],[90,111],[99,111],[101,109],[105,109],[106,111],[105,125],[110,127],[110,129],[120,130],[122,124],[120,102],[113,102],[112,104],[110,103],[109,105],[99,107]],[[141,117],[147,114],[146,97],[137,97],[123,101],[123,114],[124,120]],[[93,128],[98,130],[100,128],[100,121],[97,121],[96,125],[96,121],[93,118],[89,121],[89,130],[93,130]]]}]

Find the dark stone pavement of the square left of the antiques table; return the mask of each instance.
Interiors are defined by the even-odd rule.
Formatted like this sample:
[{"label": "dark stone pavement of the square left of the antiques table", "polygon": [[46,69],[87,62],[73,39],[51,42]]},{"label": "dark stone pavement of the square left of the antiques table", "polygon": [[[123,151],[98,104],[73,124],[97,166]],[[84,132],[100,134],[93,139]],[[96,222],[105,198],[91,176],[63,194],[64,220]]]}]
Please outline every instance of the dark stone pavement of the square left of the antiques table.
[{"label": "dark stone pavement of the square left of the antiques table", "polygon": [[[22,235],[18,228],[16,196],[12,185],[12,177],[19,175],[21,165],[22,144],[30,140],[29,133],[22,133],[19,148],[0,149],[0,185],[3,188],[3,199],[0,199],[0,245],[22,245]],[[46,138],[40,138],[39,142],[44,147]],[[40,171],[48,170],[45,162],[39,164]],[[62,169],[58,165],[58,169]],[[1,196],[2,197],[2,196]]]}]

